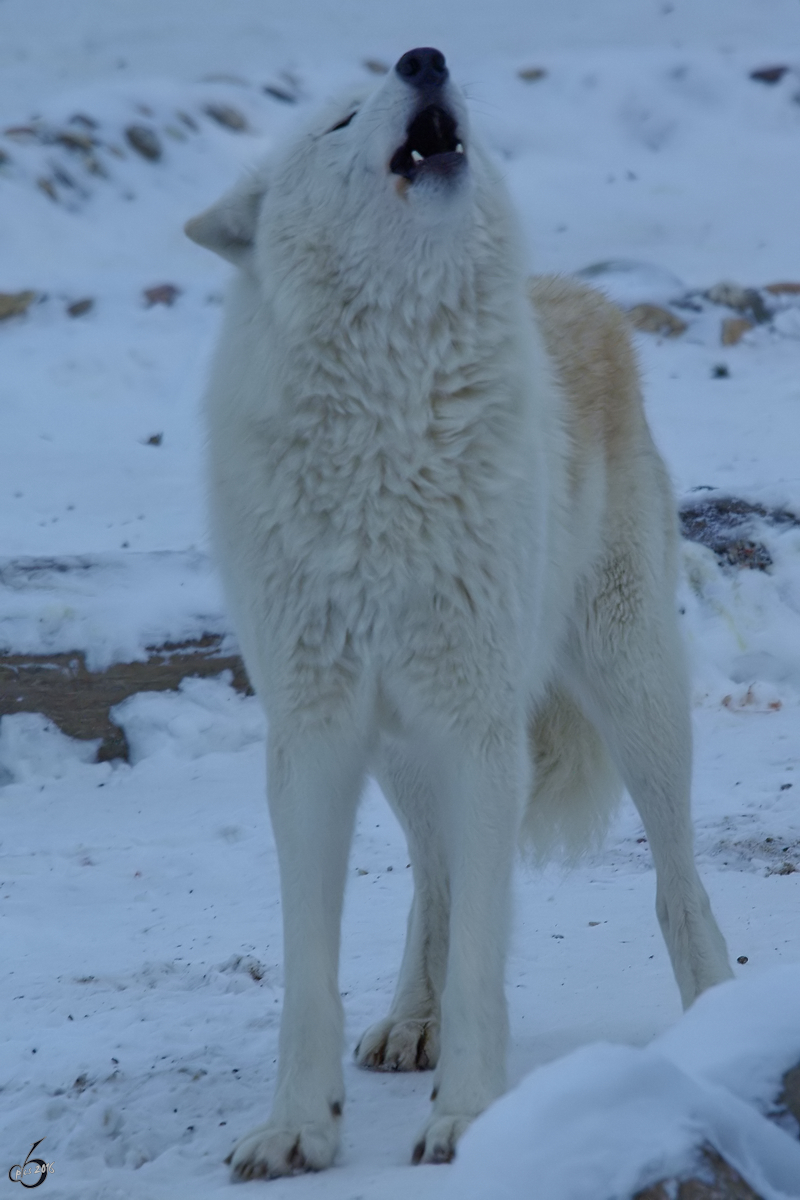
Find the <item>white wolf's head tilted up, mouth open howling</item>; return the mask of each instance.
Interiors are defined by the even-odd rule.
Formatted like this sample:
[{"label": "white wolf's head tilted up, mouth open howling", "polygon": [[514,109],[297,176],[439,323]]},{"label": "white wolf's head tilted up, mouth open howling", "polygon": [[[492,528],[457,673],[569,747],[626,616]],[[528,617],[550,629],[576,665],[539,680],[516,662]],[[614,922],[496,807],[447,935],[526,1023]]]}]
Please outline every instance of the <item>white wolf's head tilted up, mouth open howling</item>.
[{"label": "white wolf's head tilted up, mouth open howling", "polygon": [[355,286],[399,264],[435,272],[449,251],[463,257],[492,240],[500,210],[507,229],[505,192],[464,97],[444,55],[421,48],[372,94],[329,106],[186,232],[261,281],[305,274],[311,257],[318,280]]}]

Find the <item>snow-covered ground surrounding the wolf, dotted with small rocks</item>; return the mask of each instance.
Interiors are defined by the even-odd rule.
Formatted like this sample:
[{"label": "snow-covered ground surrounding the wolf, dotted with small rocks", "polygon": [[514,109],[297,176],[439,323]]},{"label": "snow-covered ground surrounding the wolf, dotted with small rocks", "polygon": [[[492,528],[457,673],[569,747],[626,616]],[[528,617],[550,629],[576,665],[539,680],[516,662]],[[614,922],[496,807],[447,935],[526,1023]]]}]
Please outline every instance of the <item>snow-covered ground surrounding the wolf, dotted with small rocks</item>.
[{"label": "snow-covered ground surrounding the wolf, dotted with small rocks", "polygon": [[[24,316],[0,320],[4,649],[83,649],[101,667],[160,640],[228,630],[207,563],[198,420],[227,269],[181,227],[299,114],[368,80],[367,59],[391,64],[426,43],[447,54],[504,163],[531,266],[657,268],[626,276],[644,288],[630,302],[722,280],[800,281],[794,0],[432,8],[0,0],[0,131],[16,131],[0,132],[0,292],[36,293]],[[774,84],[750,78],[774,65],[790,70]],[[523,79],[525,68],[546,73]],[[132,146],[132,126],[156,136],[158,158]],[[666,271],[675,282],[660,290]],[[619,271],[597,281],[621,287]],[[145,290],[164,284],[179,289],[173,302],[149,304]],[[92,307],[68,316],[85,299]],[[688,322],[681,337],[639,336],[649,418],[682,500],[732,494],[800,515],[800,308],[790,295],[775,306],[733,347],[720,326],[734,313],[705,300],[675,308]],[[680,596],[698,854],[751,989],[768,968],[800,962],[800,528],[757,524],[768,571],[722,569],[687,545]],[[0,725],[0,1168],[43,1136],[49,1196],[205,1200],[228,1193],[222,1159],[263,1118],[275,1073],[282,950],[263,719],[225,679],[133,697],[116,715],[130,766],[89,762],[86,746],[35,715]],[[368,788],[342,953],[350,1046],[391,996],[407,862]],[[504,1128],[522,1126],[503,1154],[492,1130],[505,1110],[488,1114],[464,1170],[522,1151],[536,1103],[570,1072],[578,1084],[646,1074],[644,1050],[601,1062],[610,1051],[581,1048],[642,1048],[679,1018],[652,901],[630,805],[585,864],[521,871],[510,1076],[547,1063],[561,1074],[534,1075],[522,1099],[504,1102],[516,1114]],[[800,1014],[796,978],[780,986],[798,988]],[[741,996],[742,1013],[763,1003]],[[676,1033],[690,1057],[698,1037]],[[662,1037],[646,1054],[686,1072],[675,1044],[668,1052]],[[572,1051],[584,1058],[554,1063]],[[347,1082],[339,1165],[271,1183],[271,1195],[425,1200],[456,1186],[459,1168],[407,1166],[429,1076],[349,1066]],[[685,1111],[688,1093],[673,1084],[663,1094]],[[609,1093],[593,1094],[619,1129]],[[753,1112],[763,1102],[746,1090],[740,1099]],[[764,1195],[768,1186],[776,1177]],[[800,1195],[800,1182],[784,1194]]]}]

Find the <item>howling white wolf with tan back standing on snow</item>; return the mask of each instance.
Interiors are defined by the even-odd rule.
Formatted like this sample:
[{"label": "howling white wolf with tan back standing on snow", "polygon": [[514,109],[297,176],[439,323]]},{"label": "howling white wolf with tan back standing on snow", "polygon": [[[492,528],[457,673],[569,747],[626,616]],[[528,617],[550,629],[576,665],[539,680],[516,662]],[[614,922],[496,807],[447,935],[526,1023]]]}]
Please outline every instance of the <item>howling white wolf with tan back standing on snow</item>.
[{"label": "howling white wolf with tan back standing on snow", "polygon": [[601,826],[624,781],[685,1004],[729,977],[692,857],[675,521],[620,314],[525,278],[438,50],[323,114],[190,221],[240,271],[207,394],[216,546],[269,716],[285,1002],[239,1178],[327,1166],[365,773],[408,836],[397,992],[365,1067],[435,1066],[414,1151],[504,1088],[517,835]]}]

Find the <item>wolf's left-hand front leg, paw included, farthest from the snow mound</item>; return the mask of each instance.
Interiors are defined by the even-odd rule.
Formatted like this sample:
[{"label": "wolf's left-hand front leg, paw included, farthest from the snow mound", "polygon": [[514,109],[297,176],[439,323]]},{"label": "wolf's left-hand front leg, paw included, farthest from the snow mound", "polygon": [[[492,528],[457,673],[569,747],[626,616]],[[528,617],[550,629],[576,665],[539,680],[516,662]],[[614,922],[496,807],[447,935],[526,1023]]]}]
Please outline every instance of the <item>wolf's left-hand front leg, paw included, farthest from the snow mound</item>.
[{"label": "wolf's left-hand front leg, paw included, farthest from the snow mound", "polygon": [[363,774],[344,730],[270,725],[267,788],[281,868],[285,990],[272,1112],[230,1156],[236,1180],[330,1166],[344,1104],[338,990],[342,900]]}]

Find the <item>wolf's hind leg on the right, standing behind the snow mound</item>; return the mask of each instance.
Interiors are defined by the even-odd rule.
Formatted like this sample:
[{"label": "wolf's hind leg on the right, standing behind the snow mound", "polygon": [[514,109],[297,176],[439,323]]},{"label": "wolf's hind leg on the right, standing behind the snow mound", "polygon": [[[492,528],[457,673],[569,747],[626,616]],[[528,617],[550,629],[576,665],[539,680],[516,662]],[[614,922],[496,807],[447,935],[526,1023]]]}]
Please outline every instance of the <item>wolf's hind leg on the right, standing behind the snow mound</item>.
[{"label": "wolf's hind leg on the right, standing behind the snow mound", "polygon": [[575,683],[639,810],[656,868],[656,913],[684,1007],[732,976],[692,848],[692,736],[670,587],[619,556],[573,641]]}]

